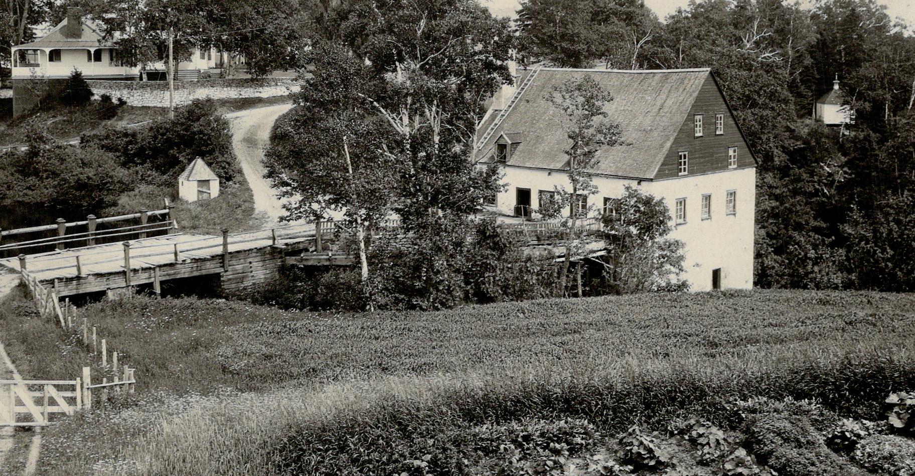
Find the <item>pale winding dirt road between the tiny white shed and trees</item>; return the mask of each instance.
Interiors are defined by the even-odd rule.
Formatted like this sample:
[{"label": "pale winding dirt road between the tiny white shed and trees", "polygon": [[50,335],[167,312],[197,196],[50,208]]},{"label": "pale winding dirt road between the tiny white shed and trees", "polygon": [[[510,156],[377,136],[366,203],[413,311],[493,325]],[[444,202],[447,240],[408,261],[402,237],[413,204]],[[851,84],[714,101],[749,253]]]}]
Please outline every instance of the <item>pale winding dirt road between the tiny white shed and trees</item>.
[{"label": "pale winding dirt road between the tiny white shed and trees", "polygon": [[278,223],[285,211],[283,203],[276,198],[276,190],[264,179],[264,147],[270,144],[270,131],[276,118],[291,108],[292,104],[279,104],[226,114],[231,121],[235,155],[254,193],[254,209],[266,213],[269,224]]}]

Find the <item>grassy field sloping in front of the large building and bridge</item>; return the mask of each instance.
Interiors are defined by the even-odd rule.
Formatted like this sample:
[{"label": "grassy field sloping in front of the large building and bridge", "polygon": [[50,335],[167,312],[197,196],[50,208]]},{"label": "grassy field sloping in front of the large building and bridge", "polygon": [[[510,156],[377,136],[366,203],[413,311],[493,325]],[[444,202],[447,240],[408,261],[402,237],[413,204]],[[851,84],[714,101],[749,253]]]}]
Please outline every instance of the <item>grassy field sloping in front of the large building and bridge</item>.
[{"label": "grassy field sloping in front of the large building and bridge", "polygon": [[[13,298],[0,307],[0,341],[19,371],[75,376],[88,360],[75,337]],[[867,413],[874,395],[915,383],[913,305],[912,295],[791,291],[374,314],[196,298],[102,302],[83,316],[126,353],[137,394],[50,428],[40,472],[305,471],[322,458],[355,458],[338,448],[346,428],[390,429],[385,417],[415,415],[396,427],[424,435],[441,427],[441,412],[468,422],[582,414],[619,429],[711,408],[714,395],[759,393]],[[678,388],[696,390],[678,400]],[[398,431],[392,440],[404,438]],[[339,454],[312,454],[305,436]],[[74,445],[81,450],[63,450]]]}]

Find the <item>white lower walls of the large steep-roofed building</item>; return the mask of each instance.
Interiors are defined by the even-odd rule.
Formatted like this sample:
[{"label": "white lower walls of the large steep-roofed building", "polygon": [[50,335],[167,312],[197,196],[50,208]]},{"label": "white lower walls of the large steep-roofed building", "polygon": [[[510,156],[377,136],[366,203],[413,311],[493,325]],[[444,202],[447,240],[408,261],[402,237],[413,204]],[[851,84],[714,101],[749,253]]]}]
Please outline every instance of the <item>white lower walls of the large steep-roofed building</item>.
[{"label": "white lower walls of the large steep-roofed building", "polygon": [[[502,183],[509,188],[498,196],[497,205],[512,213],[518,188],[531,189],[531,206],[539,207],[538,190],[553,190],[555,185],[569,189],[565,172],[539,168],[506,167]],[[674,225],[671,238],[685,244],[684,267],[690,289],[704,291],[712,288],[712,270],[721,268],[722,288],[749,289],[753,287],[753,233],[756,204],[756,169],[741,168],[698,176],[685,176],[658,181],[594,179],[599,192],[588,197],[588,204],[597,209],[604,197],[618,198],[626,185],[665,200],[673,214],[675,200],[686,199],[684,224]],[[728,190],[737,191],[737,213],[727,215],[725,200]],[[702,196],[712,195],[711,218],[702,220]],[[536,216],[536,215],[535,215]],[[673,223],[673,215],[671,217]]]}]

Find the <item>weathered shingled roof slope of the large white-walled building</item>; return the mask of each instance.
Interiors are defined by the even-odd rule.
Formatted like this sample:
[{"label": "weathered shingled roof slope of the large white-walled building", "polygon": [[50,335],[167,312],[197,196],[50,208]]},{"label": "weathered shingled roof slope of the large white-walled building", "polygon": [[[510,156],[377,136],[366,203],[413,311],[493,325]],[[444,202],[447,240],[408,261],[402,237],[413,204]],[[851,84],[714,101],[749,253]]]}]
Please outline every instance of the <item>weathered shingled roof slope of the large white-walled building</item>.
[{"label": "weathered shingled roof slope of the large white-walled building", "polygon": [[[586,75],[613,95],[605,106],[610,121],[619,123],[622,145],[597,154],[594,172],[615,177],[651,179],[683,126],[695,96],[709,76],[695,70],[571,70],[543,68],[521,92],[519,101],[498,124],[486,144],[482,162],[489,162],[495,141],[522,131],[524,140],[507,165],[530,168],[568,167],[565,149],[569,139],[565,118],[544,96],[554,86]],[[517,94],[517,93],[516,93]],[[495,115],[492,114],[492,115]],[[487,124],[488,125],[488,124]]]}]

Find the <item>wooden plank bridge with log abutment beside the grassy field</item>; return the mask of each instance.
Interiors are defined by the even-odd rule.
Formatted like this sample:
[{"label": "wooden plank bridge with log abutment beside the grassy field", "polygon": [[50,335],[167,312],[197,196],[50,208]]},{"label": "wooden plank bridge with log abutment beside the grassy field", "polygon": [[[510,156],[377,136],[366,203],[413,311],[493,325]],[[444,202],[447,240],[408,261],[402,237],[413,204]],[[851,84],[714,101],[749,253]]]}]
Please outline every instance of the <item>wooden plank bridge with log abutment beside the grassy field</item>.
[{"label": "wooden plank bridge with log abutment beside the grassy field", "polygon": [[[280,265],[351,265],[350,256],[323,251],[335,222],[294,224],[221,236],[166,234],[120,243],[105,243],[0,259],[0,265],[56,289],[67,297],[211,275],[222,291],[263,283]],[[318,250],[321,250],[318,252]],[[304,252],[304,253],[303,253]]]}]

